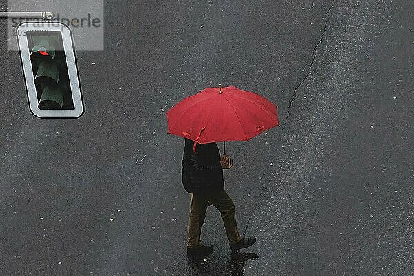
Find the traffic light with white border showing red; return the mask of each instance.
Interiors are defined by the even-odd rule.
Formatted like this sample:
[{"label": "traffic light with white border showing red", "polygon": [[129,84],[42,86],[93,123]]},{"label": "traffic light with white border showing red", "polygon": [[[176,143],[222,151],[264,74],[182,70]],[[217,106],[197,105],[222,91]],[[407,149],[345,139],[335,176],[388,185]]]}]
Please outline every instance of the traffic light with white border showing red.
[{"label": "traffic light with white border showing red", "polygon": [[68,26],[23,23],[19,29],[25,30],[18,38],[30,110],[37,117],[79,117],[83,101]]}]

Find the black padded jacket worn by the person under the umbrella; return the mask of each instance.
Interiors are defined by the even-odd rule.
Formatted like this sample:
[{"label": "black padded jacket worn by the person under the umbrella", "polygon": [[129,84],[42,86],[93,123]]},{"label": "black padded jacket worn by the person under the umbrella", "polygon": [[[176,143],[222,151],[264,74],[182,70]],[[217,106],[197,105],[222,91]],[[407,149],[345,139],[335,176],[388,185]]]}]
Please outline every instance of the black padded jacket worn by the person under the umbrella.
[{"label": "black padded jacket worn by the person under the umbrella", "polygon": [[188,193],[217,193],[224,190],[223,169],[217,144],[198,144],[184,138],[182,179]]}]

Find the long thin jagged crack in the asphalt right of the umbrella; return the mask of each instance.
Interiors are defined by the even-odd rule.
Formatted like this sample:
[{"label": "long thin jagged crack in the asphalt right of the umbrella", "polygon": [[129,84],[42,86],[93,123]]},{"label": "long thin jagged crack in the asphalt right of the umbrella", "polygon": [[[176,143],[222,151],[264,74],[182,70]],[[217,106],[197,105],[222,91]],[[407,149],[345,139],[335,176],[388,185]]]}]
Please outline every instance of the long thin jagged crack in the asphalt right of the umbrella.
[{"label": "long thin jagged crack in the asphalt right of the umbrella", "polygon": [[[326,21],[325,21],[325,26],[324,26],[324,32],[322,33],[322,36],[320,37],[319,41],[316,43],[315,47],[313,48],[313,58],[312,58],[312,61],[311,61],[311,65],[309,66],[308,73],[306,74],[306,76],[304,77],[304,79],[302,79],[302,81],[299,83],[299,85],[296,86],[295,90],[293,90],[293,97],[290,100],[290,104],[288,106],[288,114],[286,115],[286,118],[285,118],[285,121],[284,121],[284,126],[283,126],[282,131],[281,131],[281,134],[280,134],[280,137],[281,138],[282,138],[282,135],[283,135],[283,130],[284,130],[284,128],[286,126],[286,123],[288,121],[288,117],[290,115],[290,107],[292,106],[293,101],[295,100],[295,97],[296,97],[296,91],[300,88],[300,86],[302,86],[302,83],[304,83],[304,81],[306,81],[306,79],[308,78],[308,76],[311,74],[313,62],[315,61],[316,55],[317,55],[317,48],[319,47],[320,43],[322,42],[322,40],[324,39],[324,36],[326,34],[326,28],[327,28],[328,22],[329,22],[328,14],[329,14],[329,12],[331,12],[334,4],[335,4],[335,0],[332,0],[332,4],[328,8],[328,11],[325,14]],[[280,139],[279,139],[279,141],[280,141]],[[265,188],[266,188],[266,185],[263,185],[262,190],[260,191],[259,196],[257,197],[255,206],[253,207],[252,211],[250,212],[250,215],[248,217],[248,222],[247,222],[246,228],[244,229],[242,235],[245,235],[245,233],[247,232],[248,226],[250,226],[250,221],[251,221],[251,219],[253,217],[253,214],[255,213],[255,210],[257,208],[257,204],[259,204],[259,200],[262,197],[262,194],[264,193],[264,189]]]}]

